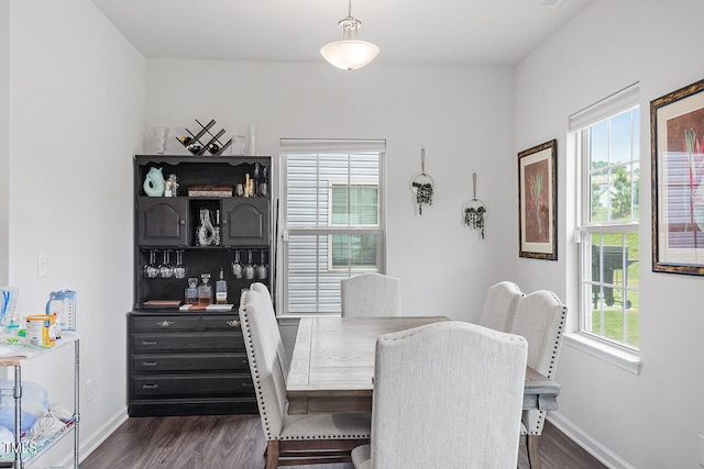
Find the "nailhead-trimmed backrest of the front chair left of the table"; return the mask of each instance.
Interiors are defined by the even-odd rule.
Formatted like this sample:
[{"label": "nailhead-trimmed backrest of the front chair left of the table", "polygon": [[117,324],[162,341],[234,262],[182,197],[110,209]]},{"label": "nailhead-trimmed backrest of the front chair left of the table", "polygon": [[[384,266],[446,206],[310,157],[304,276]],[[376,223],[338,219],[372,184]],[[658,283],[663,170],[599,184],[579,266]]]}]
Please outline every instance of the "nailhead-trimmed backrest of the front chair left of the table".
[{"label": "nailhead-trimmed backrest of the front chair left of the table", "polygon": [[284,425],[286,373],[279,358],[282,336],[271,297],[257,290],[242,292],[240,324],[264,435],[271,440],[278,439]]}]

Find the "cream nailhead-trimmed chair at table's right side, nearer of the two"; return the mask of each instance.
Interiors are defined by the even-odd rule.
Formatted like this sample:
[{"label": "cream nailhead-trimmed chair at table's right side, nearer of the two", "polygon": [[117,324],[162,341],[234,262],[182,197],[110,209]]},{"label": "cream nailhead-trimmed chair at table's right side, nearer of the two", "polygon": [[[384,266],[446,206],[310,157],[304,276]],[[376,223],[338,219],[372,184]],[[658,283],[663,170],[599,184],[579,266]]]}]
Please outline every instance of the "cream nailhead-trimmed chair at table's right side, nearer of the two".
[{"label": "cream nailhead-trimmed chair at table's right side, nearer of the two", "polygon": [[[528,366],[553,378],[568,306],[551,291],[538,290],[518,301],[512,333],[528,340]],[[540,435],[546,420],[546,411],[524,411],[520,428],[520,444],[528,450],[531,469],[540,469]]]}]

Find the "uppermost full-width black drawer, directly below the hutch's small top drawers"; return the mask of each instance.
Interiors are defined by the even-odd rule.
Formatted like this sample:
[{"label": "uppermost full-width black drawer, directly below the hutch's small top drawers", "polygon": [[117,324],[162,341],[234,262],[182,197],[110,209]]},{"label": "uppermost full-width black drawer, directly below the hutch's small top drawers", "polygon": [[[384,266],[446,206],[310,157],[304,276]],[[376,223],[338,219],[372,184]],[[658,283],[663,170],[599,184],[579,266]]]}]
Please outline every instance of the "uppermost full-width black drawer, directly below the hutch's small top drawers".
[{"label": "uppermost full-width black drawer, directly below the hutch's small top drawers", "polygon": [[226,351],[243,350],[244,342],[241,332],[232,333],[172,333],[172,334],[134,334],[132,351]]}]

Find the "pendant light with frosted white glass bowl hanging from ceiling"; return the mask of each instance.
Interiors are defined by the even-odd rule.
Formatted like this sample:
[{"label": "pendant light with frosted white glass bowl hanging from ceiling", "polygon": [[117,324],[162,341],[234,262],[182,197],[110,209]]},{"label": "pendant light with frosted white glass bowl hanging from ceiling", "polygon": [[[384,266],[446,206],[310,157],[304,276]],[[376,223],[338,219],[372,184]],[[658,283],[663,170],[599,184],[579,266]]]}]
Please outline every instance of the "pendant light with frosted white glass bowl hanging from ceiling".
[{"label": "pendant light with frosted white glass bowl hanging from ceiling", "polygon": [[343,70],[356,70],[370,65],[378,55],[378,47],[358,38],[362,22],[352,18],[352,0],[348,0],[348,18],[340,20],[338,24],[342,26],[342,41],[326,44],[320,49],[320,55]]}]

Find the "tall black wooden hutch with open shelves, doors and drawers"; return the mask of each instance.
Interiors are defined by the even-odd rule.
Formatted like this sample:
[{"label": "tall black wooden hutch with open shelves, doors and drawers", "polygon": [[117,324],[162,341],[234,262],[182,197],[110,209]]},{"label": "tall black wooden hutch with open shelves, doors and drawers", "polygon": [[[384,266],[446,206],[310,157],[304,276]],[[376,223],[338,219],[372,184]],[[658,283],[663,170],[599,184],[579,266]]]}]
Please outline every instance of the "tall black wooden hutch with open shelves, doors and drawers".
[{"label": "tall black wooden hutch with open shelves, doors and drawers", "polygon": [[[175,175],[175,197],[148,197],[143,183],[152,168]],[[260,281],[273,290],[272,198],[270,190],[239,197],[255,168],[271,187],[272,158],[265,156],[134,157],[134,303],[128,313],[130,416],[256,413],[256,400],[238,316],[240,292]],[[264,171],[264,169],[266,170]],[[264,179],[264,178],[268,179]],[[216,197],[189,188],[231,188]],[[246,189],[245,189],[246,190]],[[219,242],[202,245],[197,228],[207,209],[219,227]],[[219,223],[218,223],[219,222]],[[263,266],[252,278],[238,278],[232,263]],[[185,278],[151,277],[147,266],[184,266]],[[265,267],[264,267],[265,266]],[[231,309],[188,309],[183,305],[188,278],[209,273],[213,291],[220,269]],[[152,273],[154,270],[152,270]],[[213,298],[215,302],[215,298]],[[201,306],[205,308],[205,306]]]}]

